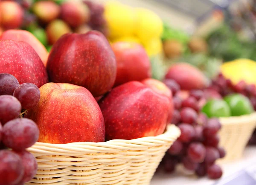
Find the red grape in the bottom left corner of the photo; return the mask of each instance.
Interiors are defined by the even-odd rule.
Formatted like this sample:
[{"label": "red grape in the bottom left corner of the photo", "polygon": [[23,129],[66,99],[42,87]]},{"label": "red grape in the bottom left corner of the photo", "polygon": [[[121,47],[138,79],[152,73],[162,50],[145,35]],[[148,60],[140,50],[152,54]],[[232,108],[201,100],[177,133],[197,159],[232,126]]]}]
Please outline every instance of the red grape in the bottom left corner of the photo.
[{"label": "red grape in the bottom left corner of the photo", "polygon": [[0,150],[0,164],[0,185],[20,182],[24,174],[20,156],[10,150]]}]

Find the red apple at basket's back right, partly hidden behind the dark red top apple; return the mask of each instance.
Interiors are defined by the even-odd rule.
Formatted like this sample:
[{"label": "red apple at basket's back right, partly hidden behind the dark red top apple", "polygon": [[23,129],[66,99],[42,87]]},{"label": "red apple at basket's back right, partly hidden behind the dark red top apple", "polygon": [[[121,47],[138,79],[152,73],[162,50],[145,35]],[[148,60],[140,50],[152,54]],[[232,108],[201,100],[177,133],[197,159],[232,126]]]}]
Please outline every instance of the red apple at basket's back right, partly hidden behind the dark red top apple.
[{"label": "red apple at basket's back right, partly hidden behind the dark red top apple", "polygon": [[116,42],[112,44],[112,49],[117,64],[114,86],[151,78],[151,65],[143,46],[138,43]]}]

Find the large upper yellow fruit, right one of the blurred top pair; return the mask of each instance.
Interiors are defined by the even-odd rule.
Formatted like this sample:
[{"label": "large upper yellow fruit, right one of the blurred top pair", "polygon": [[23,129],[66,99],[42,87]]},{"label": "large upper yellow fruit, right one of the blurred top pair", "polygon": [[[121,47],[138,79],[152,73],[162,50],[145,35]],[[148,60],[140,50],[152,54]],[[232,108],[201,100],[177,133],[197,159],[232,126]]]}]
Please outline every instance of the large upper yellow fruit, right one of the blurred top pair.
[{"label": "large upper yellow fruit, right one of the blurred top pair", "polygon": [[136,10],[136,30],[135,35],[146,44],[151,38],[160,38],[163,33],[163,22],[154,12],[144,8]]}]

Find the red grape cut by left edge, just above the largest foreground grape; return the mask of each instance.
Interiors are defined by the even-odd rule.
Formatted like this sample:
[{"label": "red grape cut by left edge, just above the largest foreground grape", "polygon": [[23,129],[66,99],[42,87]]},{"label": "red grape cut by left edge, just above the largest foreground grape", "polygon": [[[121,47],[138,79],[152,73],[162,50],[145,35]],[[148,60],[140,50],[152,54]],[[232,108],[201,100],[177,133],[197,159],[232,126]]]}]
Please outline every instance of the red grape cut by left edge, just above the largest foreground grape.
[{"label": "red grape cut by left edge, just above the largest foreground grape", "polygon": [[7,121],[20,116],[21,104],[12,95],[0,95],[0,122],[4,125]]}]

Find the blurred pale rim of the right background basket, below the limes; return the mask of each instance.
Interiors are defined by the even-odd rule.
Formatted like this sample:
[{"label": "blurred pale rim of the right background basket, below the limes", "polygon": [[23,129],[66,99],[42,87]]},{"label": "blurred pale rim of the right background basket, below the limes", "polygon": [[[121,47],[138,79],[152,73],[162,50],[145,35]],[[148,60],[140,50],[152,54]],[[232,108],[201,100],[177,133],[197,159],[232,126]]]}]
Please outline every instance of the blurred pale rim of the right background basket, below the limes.
[{"label": "blurred pale rim of the right background basket, below the limes", "polygon": [[251,121],[256,122],[256,112],[254,111],[251,114],[242,115],[242,116],[229,116],[229,117],[220,117],[219,120],[221,124],[241,124]]}]

